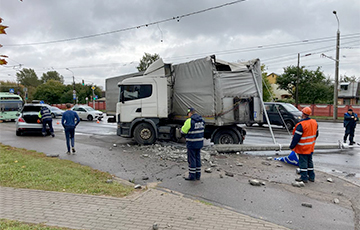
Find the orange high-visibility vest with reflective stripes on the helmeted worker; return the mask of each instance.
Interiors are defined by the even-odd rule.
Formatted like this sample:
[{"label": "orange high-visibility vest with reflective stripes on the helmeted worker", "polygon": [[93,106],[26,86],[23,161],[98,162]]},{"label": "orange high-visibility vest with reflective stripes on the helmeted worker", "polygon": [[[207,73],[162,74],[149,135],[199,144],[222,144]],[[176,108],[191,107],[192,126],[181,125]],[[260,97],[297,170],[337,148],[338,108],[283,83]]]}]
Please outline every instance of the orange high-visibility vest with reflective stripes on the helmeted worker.
[{"label": "orange high-visibility vest with reflective stripes on the helmeted worker", "polygon": [[301,124],[303,128],[303,133],[300,138],[299,143],[293,149],[298,154],[311,154],[314,152],[316,132],[317,132],[317,122],[314,119],[300,121],[295,125],[293,130],[293,135],[296,132],[296,127]]}]

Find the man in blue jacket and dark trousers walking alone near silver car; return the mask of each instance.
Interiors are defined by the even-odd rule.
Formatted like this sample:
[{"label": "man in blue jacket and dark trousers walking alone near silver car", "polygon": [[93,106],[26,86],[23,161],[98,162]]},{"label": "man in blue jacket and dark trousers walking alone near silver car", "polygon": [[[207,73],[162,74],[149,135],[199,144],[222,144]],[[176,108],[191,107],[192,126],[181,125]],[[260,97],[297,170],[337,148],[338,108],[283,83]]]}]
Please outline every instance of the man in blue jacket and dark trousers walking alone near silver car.
[{"label": "man in blue jacket and dark trousers walking alone near silver car", "polygon": [[67,152],[66,154],[70,155],[70,141],[72,152],[75,154],[75,128],[80,122],[79,115],[70,109],[71,105],[69,103],[66,104],[67,110],[62,115],[61,124],[65,129],[65,137],[66,137],[66,146]]}]

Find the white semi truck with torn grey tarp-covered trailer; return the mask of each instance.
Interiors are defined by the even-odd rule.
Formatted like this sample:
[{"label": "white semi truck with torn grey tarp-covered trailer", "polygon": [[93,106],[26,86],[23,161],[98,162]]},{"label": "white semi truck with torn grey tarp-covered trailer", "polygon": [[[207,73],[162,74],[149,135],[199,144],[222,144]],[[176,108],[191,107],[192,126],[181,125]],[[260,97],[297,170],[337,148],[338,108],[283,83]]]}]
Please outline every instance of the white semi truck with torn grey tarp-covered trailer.
[{"label": "white semi truck with torn grey tarp-covered trailer", "polygon": [[230,63],[213,55],[177,65],[159,59],[118,87],[117,135],[141,145],[176,140],[189,107],[204,118],[204,137],[215,144],[241,144],[246,130],[239,124],[263,122],[259,59]]}]

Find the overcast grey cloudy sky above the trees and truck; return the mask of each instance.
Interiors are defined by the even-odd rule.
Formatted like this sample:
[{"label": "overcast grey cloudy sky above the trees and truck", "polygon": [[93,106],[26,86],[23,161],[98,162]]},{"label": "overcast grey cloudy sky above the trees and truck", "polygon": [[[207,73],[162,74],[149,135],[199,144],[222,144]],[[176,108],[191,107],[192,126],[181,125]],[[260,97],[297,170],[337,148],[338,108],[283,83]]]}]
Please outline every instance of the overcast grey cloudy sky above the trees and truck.
[{"label": "overcast grey cloudy sky above the trees and truck", "polygon": [[55,70],[66,84],[74,74],[77,83],[105,88],[106,78],[136,72],[145,52],[174,64],[212,54],[259,58],[269,74],[296,66],[300,53],[301,66],[321,66],[334,79],[334,10],[340,75],[359,78],[359,0],[0,0],[9,27],[0,34],[0,55],[9,57],[0,80],[31,68],[39,78]]}]

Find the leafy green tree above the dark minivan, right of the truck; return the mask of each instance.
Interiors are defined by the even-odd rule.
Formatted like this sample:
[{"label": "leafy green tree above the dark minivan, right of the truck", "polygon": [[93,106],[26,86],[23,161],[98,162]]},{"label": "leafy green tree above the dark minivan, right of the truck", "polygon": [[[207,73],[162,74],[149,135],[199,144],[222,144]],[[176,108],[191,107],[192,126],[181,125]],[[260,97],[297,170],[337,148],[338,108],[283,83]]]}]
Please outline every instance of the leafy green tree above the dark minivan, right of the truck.
[{"label": "leafy green tree above the dark minivan, right of the truck", "polygon": [[326,79],[320,67],[315,71],[307,70],[305,66],[300,67],[299,79],[297,71],[297,66],[284,68],[284,73],[277,78],[279,88],[288,91],[295,98],[298,80],[299,103],[332,103],[334,86],[330,79]]}]

